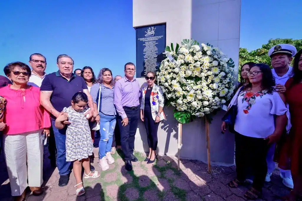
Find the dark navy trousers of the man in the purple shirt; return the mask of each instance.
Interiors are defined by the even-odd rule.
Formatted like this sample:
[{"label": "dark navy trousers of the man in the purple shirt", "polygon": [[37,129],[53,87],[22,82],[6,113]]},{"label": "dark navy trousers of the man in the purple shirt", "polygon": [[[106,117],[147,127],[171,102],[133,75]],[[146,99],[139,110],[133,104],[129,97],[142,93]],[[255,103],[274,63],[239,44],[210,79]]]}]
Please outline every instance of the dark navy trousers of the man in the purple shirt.
[{"label": "dark navy trousers of the man in the purple shirt", "polygon": [[131,154],[134,150],[135,133],[137,130],[138,120],[140,119],[140,106],[128,108],[123,107],[128,117],[127,126],[123,126],[122,118],[120,115],[117,116],[118,126],[120,128],[120,143],[124,152],[124,159],[126,161],[131,160]]}]

